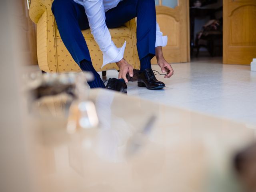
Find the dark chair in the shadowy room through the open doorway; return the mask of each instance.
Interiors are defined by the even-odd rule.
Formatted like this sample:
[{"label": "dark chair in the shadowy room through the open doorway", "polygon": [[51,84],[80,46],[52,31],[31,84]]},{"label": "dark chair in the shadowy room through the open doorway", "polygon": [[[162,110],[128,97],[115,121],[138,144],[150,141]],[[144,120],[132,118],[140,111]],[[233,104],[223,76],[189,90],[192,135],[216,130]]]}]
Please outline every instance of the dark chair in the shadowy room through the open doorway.
[{"label": "dark chair in the shadowy room through the open doorway", "polygon": [[203,27],[200,32],[196,35],[195,47],[196,57],[199,55],[200,47],[207,48],[210,55],[213,57],[216,55],[216,48],[222,56],[223,46],[223,32],[222,32],[222,18],[219,20],[210,20]]}]

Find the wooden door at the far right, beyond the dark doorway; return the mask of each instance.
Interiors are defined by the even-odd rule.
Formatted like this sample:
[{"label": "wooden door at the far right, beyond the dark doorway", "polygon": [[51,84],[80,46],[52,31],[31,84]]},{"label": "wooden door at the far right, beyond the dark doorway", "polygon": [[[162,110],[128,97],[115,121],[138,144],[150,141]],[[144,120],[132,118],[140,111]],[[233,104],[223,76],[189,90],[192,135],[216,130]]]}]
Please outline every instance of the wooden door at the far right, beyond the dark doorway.
[{"label": "wooden door at the far right, beyond the dark doorway", "polygon": [[223,1],[223,63],[248,65],[256,58],[256,0]]}]

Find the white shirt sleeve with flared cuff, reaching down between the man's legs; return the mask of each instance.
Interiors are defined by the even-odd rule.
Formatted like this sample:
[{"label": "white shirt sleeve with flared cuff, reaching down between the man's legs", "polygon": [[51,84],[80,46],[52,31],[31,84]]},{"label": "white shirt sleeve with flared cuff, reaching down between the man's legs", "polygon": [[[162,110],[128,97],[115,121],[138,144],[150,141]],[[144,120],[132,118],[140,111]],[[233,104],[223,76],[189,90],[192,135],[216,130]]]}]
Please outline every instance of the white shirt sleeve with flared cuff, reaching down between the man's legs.
[{"label": "white shirt sleeve with flared cuff, reaching down between the man's legs", "polygon": [[121,48],[117,48],[111,40],[111,35],[105,22],[103,0],[84,0],[84,9],[94,40],[103,53],[102,67],[108,63],[115,63],[122,60],[126,42],[124,42]]}]

